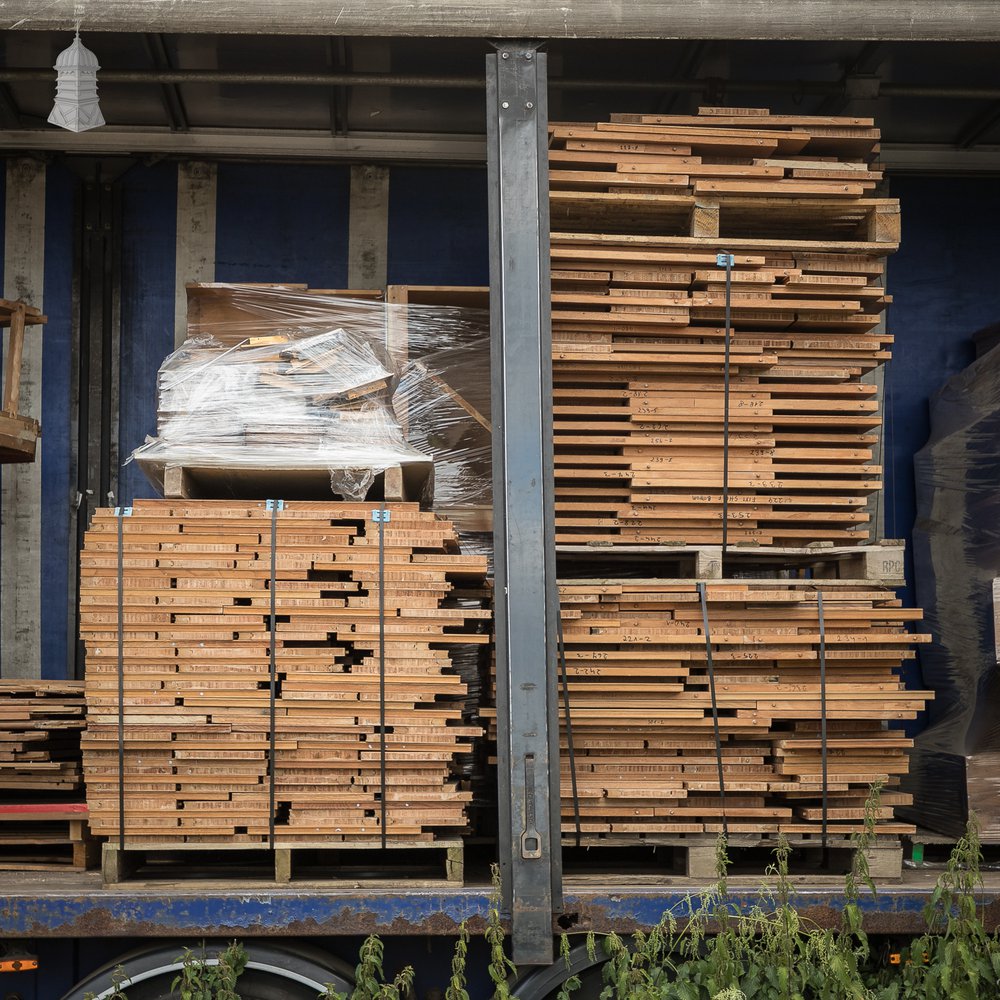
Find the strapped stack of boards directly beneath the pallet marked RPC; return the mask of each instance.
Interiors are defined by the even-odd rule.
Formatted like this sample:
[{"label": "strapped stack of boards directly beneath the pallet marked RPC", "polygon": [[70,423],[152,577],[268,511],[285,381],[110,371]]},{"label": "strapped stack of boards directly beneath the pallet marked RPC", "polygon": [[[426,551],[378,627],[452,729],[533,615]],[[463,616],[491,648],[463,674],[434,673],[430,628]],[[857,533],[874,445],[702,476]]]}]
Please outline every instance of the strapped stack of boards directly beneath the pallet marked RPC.
[{"label": "strapped stack of boards directly beneath the pallet marked RPC", "polygon": [[[866,583],[706,585],[725,803],[720,795],[705,628],[698,584],[564,580],[563,636],[580,832],[788,836],[822,828],[820,650],[826,662],[827,827],[862,828],[870,786],[885,783],[877,829],[893,822],[911,741],[886,728],[933,694],[898,676],[920,612]],[[564,706],[562,822],[575,830]]]}]

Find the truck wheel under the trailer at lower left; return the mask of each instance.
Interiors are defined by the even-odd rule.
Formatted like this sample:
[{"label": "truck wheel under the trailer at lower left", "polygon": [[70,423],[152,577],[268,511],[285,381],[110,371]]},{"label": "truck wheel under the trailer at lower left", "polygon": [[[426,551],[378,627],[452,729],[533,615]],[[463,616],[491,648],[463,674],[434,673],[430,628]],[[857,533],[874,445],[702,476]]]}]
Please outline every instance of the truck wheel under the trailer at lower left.
[{"label": "truck wheel under the trailer at lower left", "polygon": [[[243,1000],[316,1000],[327,984],[338,993],[349,994],[354,987],[354,970],[318,948],[253,940],[244,941],[243,947],[248,956],[238,984]],[[208,961],[223,948],[225,944],[207,945]],[[183,951],[184,943],[178,942],[128,952],[82,980],[63,1000],[83,1000],[86,993],[105,1000],[112,994],[112,975],[119,965],[128,975],[122,984],[128,1000],[169,1000]]]}]

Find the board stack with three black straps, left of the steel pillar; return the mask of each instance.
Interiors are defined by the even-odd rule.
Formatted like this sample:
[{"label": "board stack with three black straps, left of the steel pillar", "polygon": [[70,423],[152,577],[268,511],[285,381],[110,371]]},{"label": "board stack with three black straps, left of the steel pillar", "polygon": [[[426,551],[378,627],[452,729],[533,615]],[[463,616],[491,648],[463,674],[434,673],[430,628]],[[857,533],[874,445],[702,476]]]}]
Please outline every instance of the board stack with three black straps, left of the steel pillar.
[{"label": "board stack with three black straps, left of the steel pillar", "polygon": [[488,641],[489,613],[462,600],[485,560],[459,555],[451,525],[416,504],[386,510],[381,576],[369,505],[149,500],[96,513],[80,621],[97,832],[119,833],[119,530],[129,845],[269,842],[272,597],[276,842],[380,837],[383,738],[388,840],[465,826],[452,763],[479,729],[462,725],[450,652]]}]

